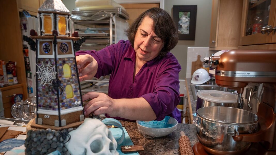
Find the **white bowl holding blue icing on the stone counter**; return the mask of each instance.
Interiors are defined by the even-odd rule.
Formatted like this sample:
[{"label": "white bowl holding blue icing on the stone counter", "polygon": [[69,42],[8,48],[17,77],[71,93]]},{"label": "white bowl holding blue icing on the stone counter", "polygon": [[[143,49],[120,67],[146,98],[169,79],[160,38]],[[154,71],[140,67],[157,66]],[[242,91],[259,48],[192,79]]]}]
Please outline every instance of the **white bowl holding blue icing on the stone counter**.
[{"label": "white bowl holding blue icing on the stone counter", "polygon": [[136,121],[136,124],[145,135],[163,137],[176,130],[178,123],[175,118],[166,116],[162,121]]}]

